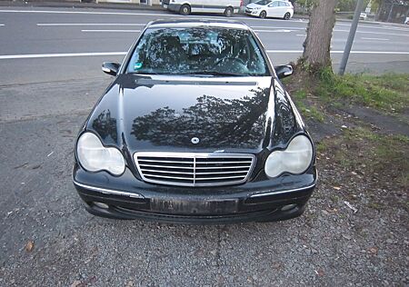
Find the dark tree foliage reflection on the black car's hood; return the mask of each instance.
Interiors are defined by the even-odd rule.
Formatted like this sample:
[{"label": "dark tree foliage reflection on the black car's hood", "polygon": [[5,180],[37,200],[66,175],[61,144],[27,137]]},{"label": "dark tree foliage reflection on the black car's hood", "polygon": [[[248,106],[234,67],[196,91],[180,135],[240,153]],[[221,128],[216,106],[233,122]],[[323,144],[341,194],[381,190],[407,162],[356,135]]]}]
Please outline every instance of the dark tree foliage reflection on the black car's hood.
[{"label": "dark tree foliage reflection on the black car's hood", "polygon": [[157,109],[135,118],[131,134],[157,145],[191,146],[196,136],[201,147],[254,148],[264,140],[269,89],[252,92],[233,100],[204,94],[182,111]]}]

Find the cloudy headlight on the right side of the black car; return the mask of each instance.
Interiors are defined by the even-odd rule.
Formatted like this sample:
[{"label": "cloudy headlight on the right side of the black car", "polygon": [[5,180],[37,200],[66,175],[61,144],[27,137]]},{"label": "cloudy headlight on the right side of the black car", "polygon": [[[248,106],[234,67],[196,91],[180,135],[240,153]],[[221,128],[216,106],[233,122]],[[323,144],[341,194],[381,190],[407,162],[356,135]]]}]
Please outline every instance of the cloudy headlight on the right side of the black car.
[{"label": "cloudy headlight on the right side of the black car", "polygon": [[313,144],[305,135],[297,135],[284,151],[271,153],[265,161],[264,171],[269,177],[281,173],[304,173],[313,160]]}]

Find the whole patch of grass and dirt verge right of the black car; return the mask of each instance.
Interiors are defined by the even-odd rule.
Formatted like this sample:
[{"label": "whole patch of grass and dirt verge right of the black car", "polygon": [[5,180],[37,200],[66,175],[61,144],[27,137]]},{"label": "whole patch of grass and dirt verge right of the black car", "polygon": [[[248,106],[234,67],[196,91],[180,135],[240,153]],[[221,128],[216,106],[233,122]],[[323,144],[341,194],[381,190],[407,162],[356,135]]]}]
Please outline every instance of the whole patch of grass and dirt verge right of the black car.
[{"label": "whole patch of grass and dirt verge right of the black car", "polygon": [[368,210],[407,213],[409,74],[339,76],[298,64],[284,84],[317,143],[318,169],[336,171],[321,181],[335,188],[330,197],[358,204],[356,188],[365,186],[359,204]]}]

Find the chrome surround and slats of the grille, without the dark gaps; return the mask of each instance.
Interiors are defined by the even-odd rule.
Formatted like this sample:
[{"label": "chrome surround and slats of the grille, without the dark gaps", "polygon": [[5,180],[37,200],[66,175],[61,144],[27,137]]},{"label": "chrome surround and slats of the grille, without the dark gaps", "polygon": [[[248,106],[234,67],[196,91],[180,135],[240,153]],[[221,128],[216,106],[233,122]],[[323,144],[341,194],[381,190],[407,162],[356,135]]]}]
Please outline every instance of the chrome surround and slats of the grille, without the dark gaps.
[{"label": "chrome surround and slats of the grille, without the dark gaps", "polygon": [[[166,166],[166,165],[155,165],[155,164],[145,164],[143,163],[145,159],[141,159],[140,161],[142,162],[141,164],[139,164],[138,162],[138,157],[170,157],[170,158],[183,158],[183,159],[192,159],[193,162],[185,162],[188,164],[194,164],[193,167],[187,167],[187,166]],[[246,169],[246,174],[242,175],[242,176],[237,176],[237,178],[242,178],[240,180],[233,180],[233,178],[231,176],[226,176],[224,178],[220,178],[221,180],[229,180],[231,179],[231,181],[229,182],[220,182],[220,183],[197,183],[196,180],[198,181],[205,181],[205,180],[212,180],[212,178],[209,179],[205,179],[205,178],[195,178],[198,175],[201,174],[205,174],[205,173],[200,173],[197,170],[202,170],[205,172],[205,170],[209,170],[209,169],[217,169],[220,167],[217,166],[199,166],[199,164],[201,163],[206,163],[206,162],[201,162],[200,159],[206,159],[206,158],[240,158],[240,159],[247,159],[248,165],[247,166],[224,166],[224,169],[229,169],[229,168],[245,168]],[[196,161],[198,160],[198,161]],[[250,162],[251,160],[251,162]],[[175,185],[175,186],[222,186],[222,185],[229,185],[229,184],[239,184],[239,183],[245,183],[247,181],[247,179],[250,177],[251,173],[253,172],[254,169],[254,165],[255,165],[255,155],[252,153],[167,153],[167,152],[138,152],[138,153],[134,153],[134,161],[135,161],[135,165],[136,168],[139,172],[139,174],[141,175],[142,179],[146,182],[146,183],[159,183],[159,184],[165,184],[165,185]],[[165,160],[166,161],[166,160]],[[158,162],[161,162],[160,160],[158,160]],[[208,162],[208,164],[211,164],[212,162]],[[232,163],[228,163],[228,164],[232,164]],[[234,164],[234,163],[233,163]],[[243,164],[240,163],[239,164]],[[148,167],[148,168],[146,168]],[[149,167],[162,167],[162,168],[174,168],[174,169],[178,169],[178,168],[182,168],[182,169],[190,169],[193,171],[194,173],[194,178],[189,179],[189,178],[180,178],[181,180],[191,180],[192,183],[173,183],[173,182],[168,182],[168,181],[160,181],[160,180],[154,180],[152,179],[152,177],[155,177],[155,175],[152,174],[144,174],[144,170],[149,169]],[[190,171],[189,171],[190,172]],[[188,172],[188,173],[189,173]],[[148,172],[149,173],[149,172]],[[243,171],[239,171],[239,173],[244,173]],[[191,174],[191,172],[190,172]],[[223,172],[222,172],[223,174]],[[148,178],[151,177],[151,178]],[[171,177],[171,176],[156,176],[156,177],[162,177],[162,178],[169,178],[172,179],[174,178],[175,180],[178,180],[178,178],[176,177]]]}]

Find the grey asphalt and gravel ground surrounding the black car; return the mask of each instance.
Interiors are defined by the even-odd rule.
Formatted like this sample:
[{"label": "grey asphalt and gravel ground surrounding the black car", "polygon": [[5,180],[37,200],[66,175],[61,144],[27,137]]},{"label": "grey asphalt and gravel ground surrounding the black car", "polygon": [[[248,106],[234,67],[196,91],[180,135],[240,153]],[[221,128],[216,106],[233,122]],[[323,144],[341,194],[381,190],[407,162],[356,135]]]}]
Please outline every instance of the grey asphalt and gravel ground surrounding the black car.
[{"label": "grey asphalt and gravel ground surrounding the black car", "polygon": [[[0,286],[409,282],[403,263],[406,231],[394,227],[394,233],[384,233],[399,223],[399,214],[391,210],[396,218],[386,222],[383,213],[360,209],[355,215],[342,201],[328,203],[332,187],[324,183],[331,167],[323,171],[304,216],[283,223],[189,226],[114,221],[86,213],[71,180],[76,133],[112,80],[102,74],[101,62],[120,61],[138,35],[101,30],[140,30],[151,19],[177,15],[12,9],[0,11]],[[239,19],[261,31],[274,63],[298,57],[306,23]],[[348,24],[335,30],[346,31]],[[350,67],[408,69],[407,30],[361,25],[354,51],[387,54],[353,54],[357,64]],[[335,31],[334,51],[343,49],[346,35]],[[339,56],[334,54],[335,63]],[[338,179],[340,174],[331,176]],[[330,207],[338,212],[328,212]],[[374,245],[379,248],[376,257]]]}]

